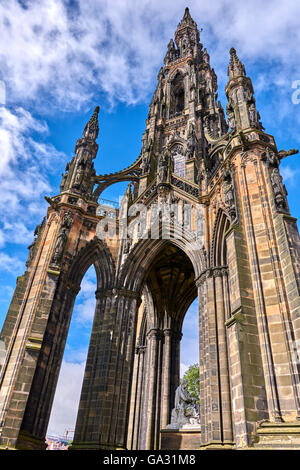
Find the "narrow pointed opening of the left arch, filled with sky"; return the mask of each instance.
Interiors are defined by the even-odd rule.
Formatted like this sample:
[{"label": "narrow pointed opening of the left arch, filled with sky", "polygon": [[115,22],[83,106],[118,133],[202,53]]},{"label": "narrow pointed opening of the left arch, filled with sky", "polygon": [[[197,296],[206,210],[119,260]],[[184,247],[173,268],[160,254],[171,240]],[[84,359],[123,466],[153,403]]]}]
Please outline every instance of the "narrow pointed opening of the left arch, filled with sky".
[{"label": "narrow pointed opening of the left arch, filled with sky", "polygon": [[48,449],[59,449],[65,446],[65,443],[68,445],[74,437],[96,306],[97,278],[94,266],[88,269],[80,287],[73,308],[47,429]]}]

